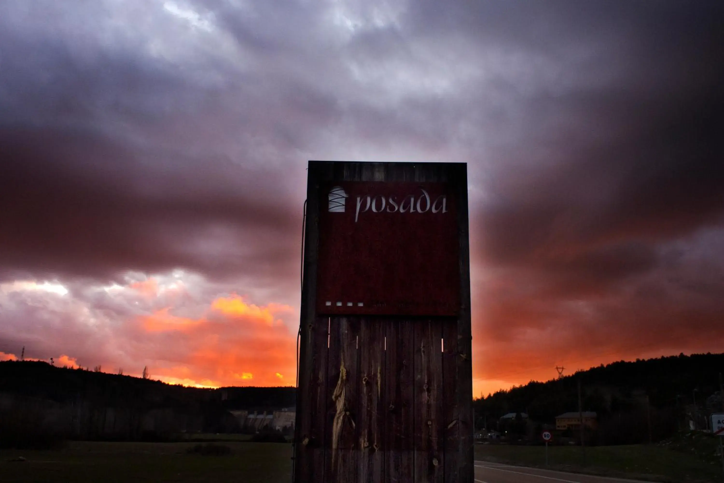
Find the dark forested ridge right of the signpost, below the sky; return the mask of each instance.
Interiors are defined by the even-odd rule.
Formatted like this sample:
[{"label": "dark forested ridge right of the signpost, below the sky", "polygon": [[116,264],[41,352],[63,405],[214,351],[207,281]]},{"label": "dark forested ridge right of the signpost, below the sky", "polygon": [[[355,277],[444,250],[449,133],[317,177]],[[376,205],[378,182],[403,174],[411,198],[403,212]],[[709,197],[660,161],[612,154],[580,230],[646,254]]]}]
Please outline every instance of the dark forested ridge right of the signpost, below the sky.
[{"label": "dark forested ridge right of the signpost, below the sky", "polygon": [[[724,353],[618,361],[476,399],[476,429],[507,430],[520,436],[529,432],[532,437],[546,424],[555,424],[555,416],[578,411],[580,383],[581,409],[597,413],[600,440],[660,440],[691,425],[707,428],[709,414],[723,409],[723,372]],[[501,421],[507,413],[519,413],[518,422]],[[523,413],[527,424],[521,424]]]}]

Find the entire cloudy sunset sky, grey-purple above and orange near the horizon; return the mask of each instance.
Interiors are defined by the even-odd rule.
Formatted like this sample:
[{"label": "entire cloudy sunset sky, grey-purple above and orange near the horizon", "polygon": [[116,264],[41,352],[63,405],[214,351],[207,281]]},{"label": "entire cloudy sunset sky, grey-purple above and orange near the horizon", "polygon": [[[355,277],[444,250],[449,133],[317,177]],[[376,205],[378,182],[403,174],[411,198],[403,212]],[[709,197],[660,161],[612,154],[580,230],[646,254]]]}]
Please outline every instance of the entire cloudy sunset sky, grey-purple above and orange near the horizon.
[{"label": "entire cloudy sunset sky, grey-purple above and orange near the horizon", "polygon": [[723,19],[3,0],[0,360],[293,385],[308,159],[468,163],[476,396],[720,352]]}]

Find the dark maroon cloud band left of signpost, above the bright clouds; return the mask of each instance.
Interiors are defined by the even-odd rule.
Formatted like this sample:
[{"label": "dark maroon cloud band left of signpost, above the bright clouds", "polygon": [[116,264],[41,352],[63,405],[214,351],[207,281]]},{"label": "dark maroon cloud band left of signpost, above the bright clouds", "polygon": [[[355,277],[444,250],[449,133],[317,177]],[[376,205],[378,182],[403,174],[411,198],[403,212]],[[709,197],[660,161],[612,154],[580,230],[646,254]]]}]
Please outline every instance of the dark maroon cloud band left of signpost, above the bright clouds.
[{"label": "dark maroon cloud band left of signpost, above the bright clouds", "polygon": [[[213,276],[256,271],[257,257],[293,256],[279,238],[297,223],[283,198],[256,192],[262,169],[141,164],[133,160],[144,154],[70,130],[0,130],[0,146],[6,270],[109,279],[182,267]],[[217,238],[219,250],[193,247],[203,238]],[[261,246],[230,258],[225,245],[239,240]]]}]

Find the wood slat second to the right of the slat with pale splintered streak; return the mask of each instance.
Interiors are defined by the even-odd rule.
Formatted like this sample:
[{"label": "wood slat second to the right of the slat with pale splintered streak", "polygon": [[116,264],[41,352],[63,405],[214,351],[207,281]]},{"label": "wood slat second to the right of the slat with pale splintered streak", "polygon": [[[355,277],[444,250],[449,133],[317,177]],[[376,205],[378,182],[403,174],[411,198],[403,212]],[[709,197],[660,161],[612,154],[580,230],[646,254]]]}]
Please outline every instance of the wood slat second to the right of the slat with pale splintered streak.
[{"label": "wood slat second to the right of the slat with pale splintered streak", "polygon": [[414,482],[414,324],[411,320],[386,321],[387,371],[384,380],[386,483]]}]

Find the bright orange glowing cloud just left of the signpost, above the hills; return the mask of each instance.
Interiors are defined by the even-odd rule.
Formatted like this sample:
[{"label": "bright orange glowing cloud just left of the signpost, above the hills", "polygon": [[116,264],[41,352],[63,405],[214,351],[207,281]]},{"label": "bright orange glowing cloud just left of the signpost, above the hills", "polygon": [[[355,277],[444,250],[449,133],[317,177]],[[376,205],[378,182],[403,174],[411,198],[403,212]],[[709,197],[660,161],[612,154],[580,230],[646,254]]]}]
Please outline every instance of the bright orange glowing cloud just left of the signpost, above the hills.
[{"label": "bright orange glowing cloud just left of the signpost, above the hills", "polygon": [[197,387],[278,386],[282,374],[296,370],[296,339],[284,321],[294,314],[290,306],[257,306],[230,295],[216,298],[198,319],[173,311],[141,316],[135,325],[149,346],[164,348],[149,365],[153,379]]}]

